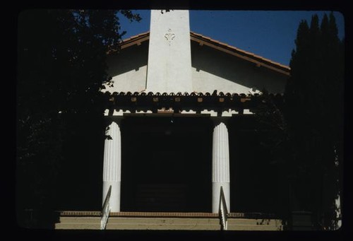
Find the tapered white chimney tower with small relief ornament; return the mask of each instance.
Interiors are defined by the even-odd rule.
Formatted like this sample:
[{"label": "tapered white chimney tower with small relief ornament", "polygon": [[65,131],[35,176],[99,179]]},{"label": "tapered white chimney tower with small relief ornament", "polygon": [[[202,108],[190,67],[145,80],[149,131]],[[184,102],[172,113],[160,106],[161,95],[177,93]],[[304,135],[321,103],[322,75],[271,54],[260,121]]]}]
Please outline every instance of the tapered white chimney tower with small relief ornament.
[{"label": "tapered white chimney tower with small relief ornament", "polygon": [[147,89],[192,92],[188,10],[151,10]]}]

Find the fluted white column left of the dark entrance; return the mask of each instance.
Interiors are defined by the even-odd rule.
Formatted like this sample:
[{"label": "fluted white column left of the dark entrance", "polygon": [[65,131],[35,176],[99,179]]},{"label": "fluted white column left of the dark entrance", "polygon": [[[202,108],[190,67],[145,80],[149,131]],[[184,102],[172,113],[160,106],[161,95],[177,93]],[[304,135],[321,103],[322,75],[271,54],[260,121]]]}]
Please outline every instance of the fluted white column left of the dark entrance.
[{"label": "fluted white column left of the dark entrance", "polygon": [[119,212],[121,183],[121,133],[119,121],[109,124],[106,134],[112,139],[105,139],[104,141],[102,205],[107,196],[109,186],[112,185],[109,206],[112,212]]}]

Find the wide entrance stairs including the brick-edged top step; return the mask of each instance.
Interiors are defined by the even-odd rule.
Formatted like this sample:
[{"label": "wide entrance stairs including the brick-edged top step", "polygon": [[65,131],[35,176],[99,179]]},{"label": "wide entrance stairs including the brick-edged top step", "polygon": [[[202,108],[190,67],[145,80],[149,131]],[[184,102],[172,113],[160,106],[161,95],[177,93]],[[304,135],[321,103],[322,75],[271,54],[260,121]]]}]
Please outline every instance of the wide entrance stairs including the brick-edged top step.
[{"label": "wide entrance stairs including the brick-edged top step", "polygon": [[[240,216],[240,218],[239,218]],[[229,213],[227,230],[283,230],[279,219]],[[217,213],[110,213],[107,230],[220,230]],[[100,211],[61,211],[55,229],[99,230]]]}]

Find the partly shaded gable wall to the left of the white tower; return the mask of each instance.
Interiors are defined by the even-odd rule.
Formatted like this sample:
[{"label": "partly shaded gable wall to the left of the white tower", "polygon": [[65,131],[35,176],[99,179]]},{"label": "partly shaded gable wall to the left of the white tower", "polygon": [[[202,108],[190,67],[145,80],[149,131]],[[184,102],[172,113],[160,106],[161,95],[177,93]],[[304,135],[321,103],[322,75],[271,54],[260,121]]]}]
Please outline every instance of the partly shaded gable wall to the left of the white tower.
[{"label": "partly shaded gable wall to the left of the white tower", "polygon": [[131,93],[145,90],[148,62],[148,41],[121,49],[119,54],[110,54],[107,58],[108,74],[112,76],[114,87],[103,90]]}]

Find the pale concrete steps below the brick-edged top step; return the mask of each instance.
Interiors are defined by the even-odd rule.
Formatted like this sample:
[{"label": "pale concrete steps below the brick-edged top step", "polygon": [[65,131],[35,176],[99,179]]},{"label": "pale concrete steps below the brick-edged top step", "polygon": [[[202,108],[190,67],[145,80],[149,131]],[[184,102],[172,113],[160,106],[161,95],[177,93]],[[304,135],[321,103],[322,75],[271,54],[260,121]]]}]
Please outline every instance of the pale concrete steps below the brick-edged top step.
[{"label": "pale concrete steps below the brick-edged top step", "polygon": [[[56,229],[100,229],[100,217],[61,216]],[[107,230],[220,230],[218,218],[109,217]],[[228,230],[283,230],[280,220],[228,218]]]}]

